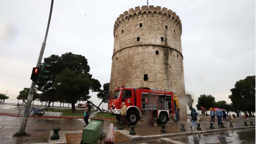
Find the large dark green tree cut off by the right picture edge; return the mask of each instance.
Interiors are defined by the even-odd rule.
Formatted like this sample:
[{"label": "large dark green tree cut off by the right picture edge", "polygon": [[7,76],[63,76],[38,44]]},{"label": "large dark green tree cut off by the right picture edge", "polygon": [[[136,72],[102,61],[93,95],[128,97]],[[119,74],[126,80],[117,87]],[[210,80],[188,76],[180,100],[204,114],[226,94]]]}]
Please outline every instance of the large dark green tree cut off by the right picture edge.
[{"label": "large dark green tree cut off by the right picture edge", "polygon": [[232,88],[231,95],[228,97],[233,103],[236,110],[255,111],[255,76],[247,76],[243,80],[239,80]]}]

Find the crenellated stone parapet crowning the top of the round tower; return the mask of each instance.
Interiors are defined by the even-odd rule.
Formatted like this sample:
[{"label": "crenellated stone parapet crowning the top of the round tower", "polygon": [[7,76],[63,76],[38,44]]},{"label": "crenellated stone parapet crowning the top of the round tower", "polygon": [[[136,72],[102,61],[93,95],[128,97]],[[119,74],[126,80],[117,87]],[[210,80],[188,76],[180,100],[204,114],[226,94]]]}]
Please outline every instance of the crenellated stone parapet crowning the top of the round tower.
[{"label": "crenellated stone parapet crowning the top of the round tower", "polygon": [[123,23],[129,22],[130,19],[139,18],[139,17],[161,17],[166,18],[170,22],[176,24],[178,29],[180,30],[180,34],[182,33],[182,24],[178,15],[172,10],[168,10],[167,8],[161,6],[142,6],[135,7],[135,9],[130,8],[129,11],[125,11],[123,14],[119,15],[114,24],[114,35],[116,29]]}]

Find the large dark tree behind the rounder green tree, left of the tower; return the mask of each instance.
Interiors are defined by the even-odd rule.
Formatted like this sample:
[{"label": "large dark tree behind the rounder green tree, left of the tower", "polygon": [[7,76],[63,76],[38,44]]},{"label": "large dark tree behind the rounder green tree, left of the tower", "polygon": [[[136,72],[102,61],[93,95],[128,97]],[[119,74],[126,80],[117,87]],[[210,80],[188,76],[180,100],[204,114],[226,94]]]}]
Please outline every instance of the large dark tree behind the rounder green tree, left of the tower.
[{"label": "large dark tree behind the rounder green tree, left of the tower", "polygon": [[[56,88],[53,86],[53,83],[55,82],[56,76],[61,74],[65,68],[74,71],[76,75],[79,75],[80,73],[87,75],[87,77],[93,83],[92,85],[90,85],[90,90],[100,90],[100,82],[97,79],[92,78],[92,75],[89,73],[90,67],[88,65],[87,59],[84,56],[69,52],[62,54],[61,56],[51,55],[50,57],[45,58],[44,62],[46,64],[51,65],[51,72],[48,75],[49,78],[47,80],[37,83],[37,89],[39,91],[46,92],[47,95],[49,95],[50,93],[51,97],[44,97],[45,101],[52,102],[52,97],[56,97],[54,98],[54,101],[63,101],[62,99],[57,99],[61,97],[57,96],[59,95],[59,91],[56,91]],[[84,101],[86,99],[81,98],[81,100]]]}]

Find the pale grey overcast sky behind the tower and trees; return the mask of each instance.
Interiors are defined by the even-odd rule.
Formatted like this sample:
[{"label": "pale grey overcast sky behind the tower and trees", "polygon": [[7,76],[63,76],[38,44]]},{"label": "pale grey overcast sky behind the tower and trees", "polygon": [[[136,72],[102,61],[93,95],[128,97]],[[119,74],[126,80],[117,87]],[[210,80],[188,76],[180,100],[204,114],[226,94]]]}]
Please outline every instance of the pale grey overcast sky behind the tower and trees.
[{"label": "pale grey overcast sky behind the tower and trees", "polygon": [[[0,93],[16,99],[30,87],[44,39],[50,0],[0,0]],[[124,11],[146,0],[55,0],[44,57],[66,52],[88,60],[93,78],[110,81],[113,25]],[[149,0],[182,22],[186,94],[231,103],[236,81],[255,75],[255,0]],[[86,15],[86,16],[85,16]],[[90,93],[97,104],[97,93]]]}]

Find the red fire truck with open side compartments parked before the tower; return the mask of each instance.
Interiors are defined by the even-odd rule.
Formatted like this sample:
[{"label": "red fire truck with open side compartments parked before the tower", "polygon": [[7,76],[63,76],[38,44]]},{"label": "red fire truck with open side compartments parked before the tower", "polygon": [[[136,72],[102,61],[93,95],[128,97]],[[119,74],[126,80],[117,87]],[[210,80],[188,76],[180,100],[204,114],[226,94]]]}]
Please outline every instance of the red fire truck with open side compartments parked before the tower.
[{"label": "red fire truck with open side compartments parked before the tower", "polygon": [[146,113],[150,112],[152,121],[159,124],[166,124],[170,118],[175,116],[173,92],[153,90],[146,87],[129,88],[116,87],[114,92],[110,92],[108,112],[115,115],[116,119],[121,119],[122,102],[127,106],[126,119],[132,124],[136,124]]}]

